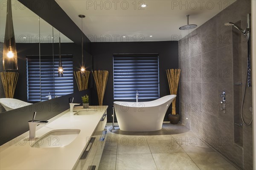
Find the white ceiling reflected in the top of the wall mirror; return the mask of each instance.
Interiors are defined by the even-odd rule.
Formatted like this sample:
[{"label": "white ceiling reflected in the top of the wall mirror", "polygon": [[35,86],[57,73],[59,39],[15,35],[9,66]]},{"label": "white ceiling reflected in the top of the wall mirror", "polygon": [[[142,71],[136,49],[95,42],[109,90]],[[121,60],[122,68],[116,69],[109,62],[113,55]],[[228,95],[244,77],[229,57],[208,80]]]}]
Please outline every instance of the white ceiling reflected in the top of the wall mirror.
[{"label": "white ceiling reflected in the top of the wall mirror", "polygon": [[[6,27],[6,0],[0,0],[0,42],[4,42],[5,27]],[[16,43],[41,43],[59,42],[59,31],[40,18],[40,33],[39,33],[39,17],[30,9],[23,6],[19,1],[12,0],[12,19],[15,33]],[[54,34],[54,36],[52,36]],[[26,37],[24,39],[23,37]],[[61,42],[72,42],[69,38],[60,34]]]}]

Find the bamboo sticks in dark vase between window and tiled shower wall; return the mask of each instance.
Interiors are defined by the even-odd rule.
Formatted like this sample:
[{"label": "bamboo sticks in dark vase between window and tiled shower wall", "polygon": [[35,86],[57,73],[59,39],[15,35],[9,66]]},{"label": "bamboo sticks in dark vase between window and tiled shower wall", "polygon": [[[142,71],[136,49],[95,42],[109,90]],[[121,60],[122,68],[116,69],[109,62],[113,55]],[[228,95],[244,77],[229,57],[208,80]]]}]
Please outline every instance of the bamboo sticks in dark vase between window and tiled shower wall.
[{"label": "bamboo sticks in dark vase between window and tiled shower wall", "polygon": [[[169,82],[170,93],[177,95],[180,69],[167,69],[166,74]],[[176,114],[176,98],[172,101],[172,114]]]}]

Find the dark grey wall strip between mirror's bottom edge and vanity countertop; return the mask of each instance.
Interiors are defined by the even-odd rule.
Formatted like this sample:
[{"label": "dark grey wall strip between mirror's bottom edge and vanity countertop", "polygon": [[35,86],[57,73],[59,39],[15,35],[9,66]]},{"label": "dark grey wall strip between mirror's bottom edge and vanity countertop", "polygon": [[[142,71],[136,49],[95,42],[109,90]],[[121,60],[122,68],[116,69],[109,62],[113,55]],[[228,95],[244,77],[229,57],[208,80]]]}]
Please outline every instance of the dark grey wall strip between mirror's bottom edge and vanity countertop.
[{"label": "dark grey wall strip between mirror's bottom edge and vanity countertop", "polygon": [[74,103],[81,103],[81,95],[85,94],[91,98],[91,90],[87,89],[85,91],[0,113],[0,144],[2,145],[28,131],[28,121],[32,120],[34,111],[37,112],[37,120],[48,120],[70,107],[69,97],[74,97]]}]

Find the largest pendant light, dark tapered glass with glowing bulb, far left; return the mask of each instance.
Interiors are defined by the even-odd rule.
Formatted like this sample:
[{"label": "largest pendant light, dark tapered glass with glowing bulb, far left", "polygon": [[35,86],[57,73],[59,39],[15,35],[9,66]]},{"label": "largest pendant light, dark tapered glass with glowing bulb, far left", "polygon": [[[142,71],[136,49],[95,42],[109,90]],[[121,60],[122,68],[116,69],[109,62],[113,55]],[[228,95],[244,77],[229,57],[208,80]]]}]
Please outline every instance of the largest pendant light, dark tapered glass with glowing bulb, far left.
[{"label": "largest pendant light, dark tapered glass with glowing bulb, far left", "polygon": [[17,70],[17,50],[15,44],[15,34],[12,22],[12,2],[7,0],[6,31],[3,44],[3,69]]}]

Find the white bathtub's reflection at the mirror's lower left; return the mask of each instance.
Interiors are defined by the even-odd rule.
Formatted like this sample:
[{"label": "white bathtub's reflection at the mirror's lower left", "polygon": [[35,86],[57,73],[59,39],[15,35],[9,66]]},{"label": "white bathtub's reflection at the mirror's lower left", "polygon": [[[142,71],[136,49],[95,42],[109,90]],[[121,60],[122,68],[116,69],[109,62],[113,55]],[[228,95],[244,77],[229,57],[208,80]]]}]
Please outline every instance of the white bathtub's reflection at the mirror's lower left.
[{"label": "white bathtub's reflection at the mirror's lower left", "polygon": [[13,109],[21,108],[27,105],[32,105],[32,103],[23,102],[22,100],[12,99],[12,98],[1,98],[1,105],[5,108],[6,111],[11,111]]}]

